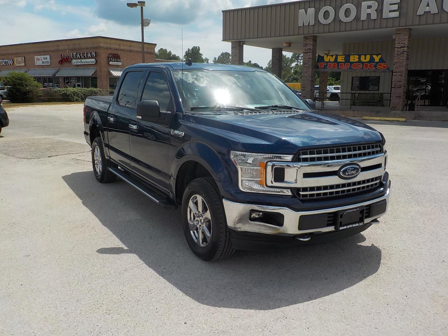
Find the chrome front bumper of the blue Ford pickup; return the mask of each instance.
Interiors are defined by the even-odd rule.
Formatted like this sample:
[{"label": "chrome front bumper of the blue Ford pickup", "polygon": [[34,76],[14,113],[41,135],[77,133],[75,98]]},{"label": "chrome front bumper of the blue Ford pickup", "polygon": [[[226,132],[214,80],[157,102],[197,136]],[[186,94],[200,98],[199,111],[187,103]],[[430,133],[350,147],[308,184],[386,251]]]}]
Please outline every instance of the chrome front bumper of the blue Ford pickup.
[{"label": "chrome front bumper of the blue Ford pickup", "polygon": [[[271,207],[265,205],[254,205],[254,204],[243,204],[231,202],[226,199],[223,200],[224,210],[227,218],[227,225],[229,228],[235,231],[244,232],[254,232],[254,233],[265,233],[272,235],[301,235],[306,233],[329,233],[336,231],[335,226],[327,226],[324,228],[312,229],[312,230],[299,230],[299,219],[302,215],[316,215],[322,213],[331,213],[340,210],[347,210],[356,207],[362,207],[370,205],[376,202],[387,200],[387,207],[389,206],[389,195],[390,195],[390,183],[388,181],[389,187],[387,187],[387,192],[384,196],[380,198],[375,198],[367,202],[357,203],[348,205],[345,207],[337,207],[332,209],[323,209],[315,211],[293,211],[286,207]],[[364,224],[370,223],[372,220],[379,218],[387,212],[384,211],[382,214],[375,215],[372,218],[366,218]],[[250,211],[265,211],[265,212],[278,212],[284,215],[283,226],[276,226],[271,224],[264,224],[259,222],[254,222],[250,220]]]}]

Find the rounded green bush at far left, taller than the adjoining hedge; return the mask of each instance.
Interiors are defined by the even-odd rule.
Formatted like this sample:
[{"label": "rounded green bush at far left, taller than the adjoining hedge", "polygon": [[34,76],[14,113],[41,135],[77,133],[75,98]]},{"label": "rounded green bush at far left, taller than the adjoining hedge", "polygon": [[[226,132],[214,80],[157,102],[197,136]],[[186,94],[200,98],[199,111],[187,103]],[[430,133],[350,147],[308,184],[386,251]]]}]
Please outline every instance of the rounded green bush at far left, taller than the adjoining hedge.
[{"label": "rounded green bush at far left, taller than the adjoining hedge", "polygon": [[8,88],[8,99],[12,103],[34,103],[41,95],[41,84],[30,75],[12,71],[4,77],[4,85]]}]

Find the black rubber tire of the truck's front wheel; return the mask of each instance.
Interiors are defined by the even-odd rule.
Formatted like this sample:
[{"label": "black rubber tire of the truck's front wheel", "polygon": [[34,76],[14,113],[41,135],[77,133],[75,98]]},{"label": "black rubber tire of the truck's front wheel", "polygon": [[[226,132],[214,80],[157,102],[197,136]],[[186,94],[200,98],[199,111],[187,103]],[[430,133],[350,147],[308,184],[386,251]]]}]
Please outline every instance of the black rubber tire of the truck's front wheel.
[{"label": "black rubber tire of the truck's front wheel", "polygon": [[[188,223],[189,202],[195,195],[203,198],[210,211],[211,239],[205,247],[199,246],[194,240]],[[182,226],[185,239],[194,254],[205,261],[226,258],[235,252],[232,248],[221,198],[218,186],[211,177],[197,178],[191,181],[182,198]]]}]

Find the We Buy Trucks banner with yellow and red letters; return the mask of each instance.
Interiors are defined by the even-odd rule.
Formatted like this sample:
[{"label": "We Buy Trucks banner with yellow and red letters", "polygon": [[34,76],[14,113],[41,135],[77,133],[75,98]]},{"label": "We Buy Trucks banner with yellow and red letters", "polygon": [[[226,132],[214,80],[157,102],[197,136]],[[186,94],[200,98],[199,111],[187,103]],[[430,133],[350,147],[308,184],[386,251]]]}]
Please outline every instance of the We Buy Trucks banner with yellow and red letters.
[{"label": "We Buy Trucks banner with yellow and red letters", "polygon": [[319,55],[316,69],[320,70],[389,70],[381,55]]}]

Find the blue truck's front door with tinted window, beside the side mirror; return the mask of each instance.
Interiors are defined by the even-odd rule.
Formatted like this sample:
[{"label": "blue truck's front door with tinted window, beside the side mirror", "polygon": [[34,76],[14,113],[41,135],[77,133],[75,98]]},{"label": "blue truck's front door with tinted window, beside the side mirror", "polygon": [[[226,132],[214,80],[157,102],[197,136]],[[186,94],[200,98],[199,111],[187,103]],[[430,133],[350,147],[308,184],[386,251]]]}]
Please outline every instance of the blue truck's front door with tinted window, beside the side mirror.
[{"label": "blue truck's front door with tinted window, beside the side mirror", "polygon": [[137,125],[137,129],[130,130],[130,142],[134,172],[169,193],[169,125],[174,114],[174,104],[167,78],[164,70],[150,69],[138,101],[157,100],[160,111],[171,112],[170,115],[163,121],[150,122],[137,119],[136,113],[133,113],[131,123]]}]

